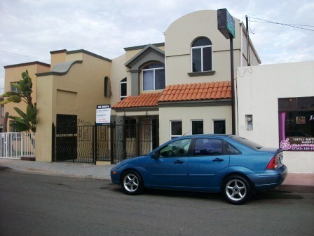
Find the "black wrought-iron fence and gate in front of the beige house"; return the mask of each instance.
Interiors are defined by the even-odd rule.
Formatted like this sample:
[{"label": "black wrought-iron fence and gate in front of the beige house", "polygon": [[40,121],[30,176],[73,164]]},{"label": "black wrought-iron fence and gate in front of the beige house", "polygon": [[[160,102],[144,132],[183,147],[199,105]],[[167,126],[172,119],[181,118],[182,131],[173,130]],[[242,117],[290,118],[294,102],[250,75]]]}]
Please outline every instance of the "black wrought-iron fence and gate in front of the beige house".
[{"label": "black wrought-iron fence and gate in front of the beige house", "polygon": [[123,159],[146,155],[159,145],[158,122],[109,126],[53,124],[52,129],[53,162],[116,164]]}]

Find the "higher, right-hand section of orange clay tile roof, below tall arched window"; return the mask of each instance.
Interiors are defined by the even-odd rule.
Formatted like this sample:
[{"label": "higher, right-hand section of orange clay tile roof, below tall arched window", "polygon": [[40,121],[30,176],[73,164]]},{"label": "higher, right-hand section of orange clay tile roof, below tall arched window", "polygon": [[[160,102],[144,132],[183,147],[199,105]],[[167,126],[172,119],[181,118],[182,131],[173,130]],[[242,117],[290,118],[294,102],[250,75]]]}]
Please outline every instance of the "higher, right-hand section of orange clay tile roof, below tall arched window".
[{"label": "higher, right-hand section of orange clay tile roof, below tall arched window", "polygon": [[231,81],[169,85],[158,102],[222,98],[231,98]]}]

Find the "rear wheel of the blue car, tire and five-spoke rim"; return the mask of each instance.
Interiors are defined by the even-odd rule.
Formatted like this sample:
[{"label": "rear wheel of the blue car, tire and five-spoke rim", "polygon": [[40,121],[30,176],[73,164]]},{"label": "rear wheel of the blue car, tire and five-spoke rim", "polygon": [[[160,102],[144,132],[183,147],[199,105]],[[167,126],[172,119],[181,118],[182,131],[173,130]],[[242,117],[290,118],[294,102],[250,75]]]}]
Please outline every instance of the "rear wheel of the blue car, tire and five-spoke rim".
[{"label": "rear wheel of the blue car, tire and five-spoke rim", "polygon": [[252,197],[250,183],[241,176],[229,176],[226,178],[222,191],[226,200],[235,205],[243,204]]}]

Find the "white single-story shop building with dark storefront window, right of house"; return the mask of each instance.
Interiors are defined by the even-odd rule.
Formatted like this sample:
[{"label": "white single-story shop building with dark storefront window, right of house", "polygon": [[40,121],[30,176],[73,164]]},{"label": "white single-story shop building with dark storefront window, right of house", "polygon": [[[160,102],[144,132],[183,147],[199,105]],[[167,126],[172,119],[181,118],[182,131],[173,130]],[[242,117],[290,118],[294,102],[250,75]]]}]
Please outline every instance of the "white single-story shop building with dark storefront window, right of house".
[{"label": "white single-story shop building with dark storefront window, right of house", "polygon": [[285,150],[290,173],[314,173],[314,62],[238,67],[238,135]]}]

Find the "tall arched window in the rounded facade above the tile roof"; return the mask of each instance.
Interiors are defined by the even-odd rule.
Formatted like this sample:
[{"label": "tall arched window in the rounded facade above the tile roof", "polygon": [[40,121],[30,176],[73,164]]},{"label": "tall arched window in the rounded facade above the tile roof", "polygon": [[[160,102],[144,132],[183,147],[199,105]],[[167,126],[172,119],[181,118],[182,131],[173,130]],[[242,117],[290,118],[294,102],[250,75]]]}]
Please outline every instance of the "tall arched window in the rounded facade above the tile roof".
[{"label": "tall arched window in the rounded facade above the tile roof", "polygon": [[192,72],[206,72],[212,70],[212,42],[201,37],[193,42],[191,47]]}]

